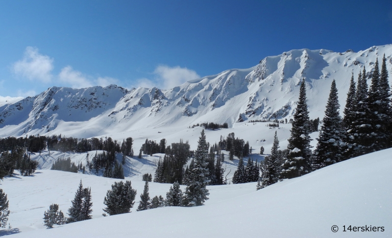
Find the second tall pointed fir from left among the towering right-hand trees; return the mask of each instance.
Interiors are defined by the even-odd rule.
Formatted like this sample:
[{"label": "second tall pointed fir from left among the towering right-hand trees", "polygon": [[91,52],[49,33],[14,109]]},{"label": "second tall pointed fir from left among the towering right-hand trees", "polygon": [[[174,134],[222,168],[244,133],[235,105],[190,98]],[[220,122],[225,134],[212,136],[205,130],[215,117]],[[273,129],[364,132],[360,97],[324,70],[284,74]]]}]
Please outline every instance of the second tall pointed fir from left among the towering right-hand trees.
[{"label": "second tall pointed fir from left among the towering right-hand trees", "polygon": [[344,131],[342,118],[339,115],[338,90],[336,89],[335,80],[332,81],[323,124],[317,140],[319,142],[313,156],[313,170],[343,160]]}]

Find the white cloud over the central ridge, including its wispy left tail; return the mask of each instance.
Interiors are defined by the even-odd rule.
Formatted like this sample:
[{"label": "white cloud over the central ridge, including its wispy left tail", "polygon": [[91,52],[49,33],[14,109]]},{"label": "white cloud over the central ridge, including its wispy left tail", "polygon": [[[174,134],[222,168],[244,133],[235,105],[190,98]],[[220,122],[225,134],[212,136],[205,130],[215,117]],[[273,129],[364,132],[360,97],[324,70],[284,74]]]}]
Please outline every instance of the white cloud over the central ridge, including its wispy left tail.
[{"label": "white cloud over the central ridge, including its wispy left tail", "polygon": [[195,70],[181,68],[180,66],[170,67],[167,65],[159,65],[155,68],[153,73],[155,74],[154,80],[149,80],[147,78],[138,79],[136,86],[170,89],[189,80],[200,78]]}]

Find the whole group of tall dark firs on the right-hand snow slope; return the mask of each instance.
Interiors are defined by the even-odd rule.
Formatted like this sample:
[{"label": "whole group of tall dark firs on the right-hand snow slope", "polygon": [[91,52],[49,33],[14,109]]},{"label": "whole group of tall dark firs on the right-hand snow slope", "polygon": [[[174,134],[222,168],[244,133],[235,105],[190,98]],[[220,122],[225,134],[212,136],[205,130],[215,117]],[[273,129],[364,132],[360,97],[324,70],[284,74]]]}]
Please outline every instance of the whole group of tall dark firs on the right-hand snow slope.
[{"label": "whole group of tall dark firs on the right-hand snow slope", "polygon": [[[370,77],[371,85],[368,87],[367,79]],[[372,74],[363,68],[358,75],[357,85],[352,74],[343,118],[339,114],[338,90],[333,80],[317,138],[318,143],[312,151],[309,136],[311,126],[303,80],[287,150],[277,150],[279,142],[275,134],[273,148],[262,166],[263,173],[257,189],[279,179],[298,177],[352,157],[390,148],[390,96],[385,56],[381,72],[377,60]]]}]

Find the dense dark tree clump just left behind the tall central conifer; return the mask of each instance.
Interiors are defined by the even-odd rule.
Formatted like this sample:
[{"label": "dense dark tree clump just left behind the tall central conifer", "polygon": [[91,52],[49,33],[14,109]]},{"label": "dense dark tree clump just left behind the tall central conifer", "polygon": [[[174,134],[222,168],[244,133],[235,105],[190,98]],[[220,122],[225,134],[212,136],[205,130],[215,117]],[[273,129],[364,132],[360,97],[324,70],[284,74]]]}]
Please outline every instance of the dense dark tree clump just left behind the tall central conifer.
[{"label": "dense dark tree clump just left behind the tall central conifer", "polygon": [[159,159],[154,175],[154,182],[174,183],[181,182],[184,176],[184,165],[191,155],[188,141],[185,143],[172,143],[165,149],[165,156]]}]

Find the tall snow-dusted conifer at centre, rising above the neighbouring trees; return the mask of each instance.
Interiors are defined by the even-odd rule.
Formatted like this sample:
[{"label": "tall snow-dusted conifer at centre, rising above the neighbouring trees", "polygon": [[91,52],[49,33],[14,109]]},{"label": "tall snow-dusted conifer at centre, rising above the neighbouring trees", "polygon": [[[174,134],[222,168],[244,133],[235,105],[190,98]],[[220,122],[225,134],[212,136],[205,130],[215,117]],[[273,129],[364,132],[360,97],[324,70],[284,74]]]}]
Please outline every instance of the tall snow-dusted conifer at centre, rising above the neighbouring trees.
[{"label": "tall snow-dusted conifer at centre, rising above the neighbouring trees", "polygon": [[207,156],[208,156],[208,145],[206,142],[204,129],[201,131],[197,143],[197,149],[194,157],[194,168],[190,169],[189,181],[190,184],[187,186],[185,191],[185,202],[186,206],[200,206],[205,200],[208,200],[208,190],[206,188],[208,180],[208,168],[207,168]]}]

